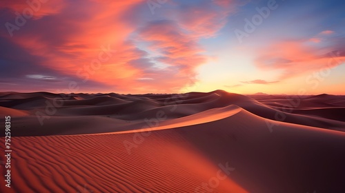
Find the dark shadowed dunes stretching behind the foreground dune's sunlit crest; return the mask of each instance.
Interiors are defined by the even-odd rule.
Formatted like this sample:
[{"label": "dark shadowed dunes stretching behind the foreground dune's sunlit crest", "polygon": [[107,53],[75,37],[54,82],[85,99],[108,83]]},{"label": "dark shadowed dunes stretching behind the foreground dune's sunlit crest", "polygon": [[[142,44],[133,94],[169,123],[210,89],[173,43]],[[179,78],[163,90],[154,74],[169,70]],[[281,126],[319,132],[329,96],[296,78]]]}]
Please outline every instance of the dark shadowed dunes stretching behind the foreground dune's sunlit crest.
[{"label": "dark shadowed dunes stretching behind the foreground dune's sunlit crest", "polygon": [[[39,96],[40,94],[41,96]],[[3,109],[2,112],[18,116],[18,119],[14,121],[18,120],[20,123],[14,124],[14,127],[18,125],[18,128],[14,130],[14,136],[63,134],[64,132],[61,132],[61,130],[65,129],[57,128],[68,127],[68,124],[70,124],[69,120],[72,120],[72,117],[78,123],[86,118],[89,118],[86,122],[90,123],[90,125],[95,125],[92,123],[97,124],[99,121],[104,121],[105,123],[99,125],[100,129],[93,130],[93,132],[92,129],[84,131],[69,130],[70,132],[66,134],[136,130],[147,125],[144,119],[155,119],[157,112],[164,114],[162,116],[165,119],[159,121],[161,122],[160,124],[164,124],[164,122],[170,119],[179,119],[215,108],[226,108],[229,105],[237,105],[239,108],[261,116],[264,119],[344,131],[345,123],[341,114],[345,109],[345,105],[334,107],[334,104],[328,101],[327,104],[332,105],[332,108],[329,108],[329,105],[328,108],[317,105],[316,107],[315,105],[309,106],[307,108],[309,110],[301,108],[310,99],[320,100],[325,98],[324,95],[310,96],[301,101],[301,107],[285,106],[285,110],[279,108],[279,105],[270,104],[272,101],[275,101],[275,104],[286,104],[286,99],[279,97],[277,99],[270,99],[272,96],[260,97],[266,97],[267,99],[259,99],[257,101],[249,96],[232,94],[222,90],[208,93],[190,92],[187,94],[71,94],[70,98],[66,100],[61,99],[60,94],[46,92],[22,94],[10,92],[9,94],[0,95],[0,105],[6,108],[6,111]],[[327,96],[327,98],[329,97]],[[340,104],[342,104],[342,101],[345,101],[344,96],[332,96],[331,98]],[[46,112],[47,103],[62,103],[63,105],[56,107],[56,112],[49,115]],[[311,103],[308,104],[310,105]],[[43,125],[37,124],[37,112],[47,116],[47,119],[43,121]],[[24,114],[25,116],[23,116]],[[94,121],[90,121],[90,119]],[[24,122],[26,123],[25,130],[34,132],[25,132],[23,128]],[[113,125],[117,125],[117,127]]]}]

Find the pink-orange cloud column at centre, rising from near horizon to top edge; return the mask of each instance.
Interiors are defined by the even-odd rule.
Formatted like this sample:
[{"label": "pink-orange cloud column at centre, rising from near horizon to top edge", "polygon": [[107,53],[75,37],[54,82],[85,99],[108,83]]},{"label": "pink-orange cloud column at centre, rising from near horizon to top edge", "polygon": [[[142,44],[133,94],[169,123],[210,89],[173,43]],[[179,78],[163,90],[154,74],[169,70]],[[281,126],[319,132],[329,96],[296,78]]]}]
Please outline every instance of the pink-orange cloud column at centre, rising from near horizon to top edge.
[{"label": "pink-orange cloud column at centre, rising from near horizon to top edge", "polygon": [[[155,53],[152,59],[165,65],[163,69],[149,71],[161,74],[170,72],[170,79],[173,81],[156,75],[156,79],[164,81],[164,85],[169,85],[170,88],[178,89],[195,83],[195,69],[210,59],[203,54],[204,49],[198,41],[215,36],[226,24],[225,17],[229,10],[215,2],[182,6],[175,12],[168,12],[165,16],[167,19],[150,22],[141,28],[138,31],[140,40],[148,43],[150,52]],[[143,76],[148,77],[148,74]]]}]

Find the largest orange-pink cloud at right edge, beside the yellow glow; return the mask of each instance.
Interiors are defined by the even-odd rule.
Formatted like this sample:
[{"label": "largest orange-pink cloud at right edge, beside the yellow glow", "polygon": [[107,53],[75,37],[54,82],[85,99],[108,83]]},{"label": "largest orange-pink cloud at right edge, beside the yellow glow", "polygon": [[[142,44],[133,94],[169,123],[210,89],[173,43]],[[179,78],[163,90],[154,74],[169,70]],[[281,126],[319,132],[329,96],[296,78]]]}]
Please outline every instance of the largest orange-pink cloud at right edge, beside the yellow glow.
[{"label": "largest orange-pink cloud at right edge, beside the yellow glow", "polygon": [[342,64],[345,57],[332,51],[331,48],[312,47],[303,41],[282,41],[263,48],[256,65],[262,70],[282,70],[279,79],[288,79]]}]

